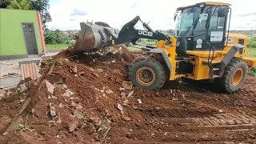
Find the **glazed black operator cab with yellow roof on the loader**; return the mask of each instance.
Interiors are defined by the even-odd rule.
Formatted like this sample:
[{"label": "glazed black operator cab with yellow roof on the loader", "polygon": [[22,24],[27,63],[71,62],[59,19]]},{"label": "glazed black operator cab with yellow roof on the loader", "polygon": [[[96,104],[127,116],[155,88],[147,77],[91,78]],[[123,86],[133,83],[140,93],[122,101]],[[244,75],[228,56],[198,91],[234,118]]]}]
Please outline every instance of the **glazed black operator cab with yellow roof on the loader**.
[{"label": "glazed black operator cab with yellow roof on the loader", "polygon": [[223,2],[200,2],[179,7],[174,14],[177,54],[186,54],[187,50],[223,50],[230,6]]}]

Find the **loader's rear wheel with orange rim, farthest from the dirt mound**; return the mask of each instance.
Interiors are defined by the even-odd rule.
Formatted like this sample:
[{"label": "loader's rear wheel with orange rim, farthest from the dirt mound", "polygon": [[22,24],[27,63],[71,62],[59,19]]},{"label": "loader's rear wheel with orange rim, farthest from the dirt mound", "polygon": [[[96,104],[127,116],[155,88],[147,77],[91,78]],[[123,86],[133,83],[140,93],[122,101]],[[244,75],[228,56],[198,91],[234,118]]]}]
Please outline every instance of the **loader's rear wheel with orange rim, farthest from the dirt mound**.
[{"label": "loader's rear wheel with orange rim, farthest from the dirt mound", "polygon": [[233,58],[226,66],[219,82],[227,93],[234,93],[246,80],[247,72],[248,66],[246,62],[239,58]]}]

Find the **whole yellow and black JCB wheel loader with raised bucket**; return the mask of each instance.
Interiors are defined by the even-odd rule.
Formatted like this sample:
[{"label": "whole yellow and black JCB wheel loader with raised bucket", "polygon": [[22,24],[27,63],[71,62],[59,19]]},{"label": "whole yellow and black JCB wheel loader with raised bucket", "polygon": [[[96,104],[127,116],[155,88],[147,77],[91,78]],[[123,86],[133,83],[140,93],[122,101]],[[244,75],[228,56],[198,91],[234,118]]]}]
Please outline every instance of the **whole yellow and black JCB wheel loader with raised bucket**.
[{"label": "whole yellow and black JCB wheel loader with raised bucket", "polygon": [[[154,31],[141,18],[127,22],[119,34],[105,22],[81,22],[81,32],[73,52],[132,42],[138,38],[157,40],[157,46],[142,46],[146,57],[135,58],[128,71],[134,86],[159,90],[166,79],[214,79],[219,88],[233,93],[246,79],[256,59],[246,58],[247,38],[230,34],[229,3],[200,2],[178,7],[175,35]],[[138,21],[146,30],[136,30]]]}]

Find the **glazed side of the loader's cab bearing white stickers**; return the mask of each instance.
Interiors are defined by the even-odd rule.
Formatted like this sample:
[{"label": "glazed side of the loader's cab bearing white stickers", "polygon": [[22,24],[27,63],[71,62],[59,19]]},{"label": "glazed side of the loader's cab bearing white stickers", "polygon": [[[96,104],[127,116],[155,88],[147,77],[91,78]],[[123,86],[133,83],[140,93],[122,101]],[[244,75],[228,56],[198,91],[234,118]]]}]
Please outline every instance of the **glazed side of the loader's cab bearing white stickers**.
[{"label": "glazed side of the loader's cab bearing white stickers", "polygon": [[[209,50],[210,46],[214,46],[215,50],[223,50],[225,47],[227,16],[218,17],[220,7],[221,6],[206,6],[206,9],[200,14],[200,18],[193,32],[193,50]],[[207,10],[211,10],[210,13],[208,13]],[[209,29],[206,30],[206,23],[209,17],[210,26]]]}]

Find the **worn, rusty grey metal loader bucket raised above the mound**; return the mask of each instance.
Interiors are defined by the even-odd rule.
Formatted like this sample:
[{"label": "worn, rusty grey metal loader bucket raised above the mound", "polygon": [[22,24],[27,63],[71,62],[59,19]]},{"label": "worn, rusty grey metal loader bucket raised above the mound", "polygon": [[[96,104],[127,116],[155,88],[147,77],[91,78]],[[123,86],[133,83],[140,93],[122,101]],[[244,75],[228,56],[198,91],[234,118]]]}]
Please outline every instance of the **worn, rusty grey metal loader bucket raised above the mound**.
[{"label": "worn, rusty grey metal loader bucket raised above the mound", "polygon": [[104,45],[104,42],[112,39],[111,34],[116,35],[113,28],[106,27],[108,25],[105,22],[98,23],[104,23],[105,25],[100,26],[89,22],[80,22],[81,31],[76,39],[74,48],[70,51],[72,54],[98,49]]}]

